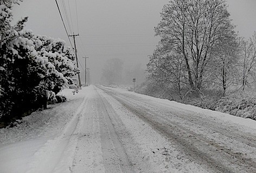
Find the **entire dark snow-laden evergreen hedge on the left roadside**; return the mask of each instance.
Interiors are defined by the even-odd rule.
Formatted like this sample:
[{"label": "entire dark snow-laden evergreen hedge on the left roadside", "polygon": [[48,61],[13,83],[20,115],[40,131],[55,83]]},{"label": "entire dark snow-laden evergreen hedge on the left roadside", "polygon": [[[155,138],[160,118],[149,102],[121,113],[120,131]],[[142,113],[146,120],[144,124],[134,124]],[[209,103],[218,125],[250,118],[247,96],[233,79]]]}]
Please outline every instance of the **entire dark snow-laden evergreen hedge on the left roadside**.
[{"label": "entire dark snow-laden evergreen hedge on the left roadside", "polygon": [[14,3],[0,0],[0,123],[41,107],[79,72],[65,41],[24,30],[28,17],[11,25]]}]

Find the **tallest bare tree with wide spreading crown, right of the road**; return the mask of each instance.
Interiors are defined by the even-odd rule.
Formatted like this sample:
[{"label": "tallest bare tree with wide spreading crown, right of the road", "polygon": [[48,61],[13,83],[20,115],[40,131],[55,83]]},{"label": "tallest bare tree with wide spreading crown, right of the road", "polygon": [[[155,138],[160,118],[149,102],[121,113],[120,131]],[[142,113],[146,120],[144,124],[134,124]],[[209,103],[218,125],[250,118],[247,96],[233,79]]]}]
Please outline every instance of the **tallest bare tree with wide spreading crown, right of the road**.
[{"label": "tallest bare tree with wide spreading crown, right of the road", "polygon": [[161,13],[156,35],[168,40],[182,58],[189,86],[199,91],[212,50],[225,30],[232,29],[225,0],[171,0]]}]

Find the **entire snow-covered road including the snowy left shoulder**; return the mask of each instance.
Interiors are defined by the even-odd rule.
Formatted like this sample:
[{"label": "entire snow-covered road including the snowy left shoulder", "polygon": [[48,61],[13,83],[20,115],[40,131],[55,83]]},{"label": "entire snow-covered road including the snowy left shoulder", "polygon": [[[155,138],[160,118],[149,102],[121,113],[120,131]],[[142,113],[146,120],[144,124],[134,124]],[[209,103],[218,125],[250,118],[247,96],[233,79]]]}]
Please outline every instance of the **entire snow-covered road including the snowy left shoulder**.
[{"label": "entire snow-covered road including the snowy left shoulder", "polygon": [[256,172],[256,121],[88,86],[0,129],[0,172]]}]

